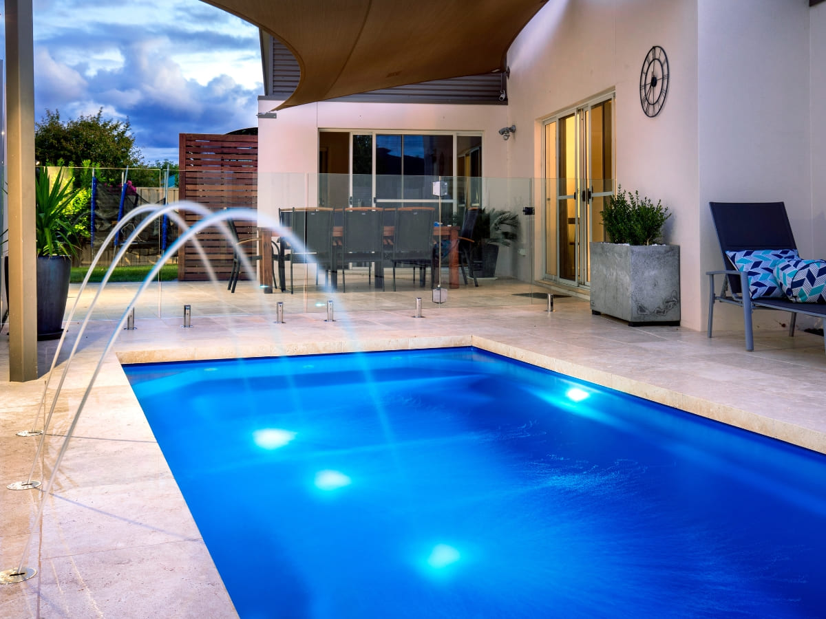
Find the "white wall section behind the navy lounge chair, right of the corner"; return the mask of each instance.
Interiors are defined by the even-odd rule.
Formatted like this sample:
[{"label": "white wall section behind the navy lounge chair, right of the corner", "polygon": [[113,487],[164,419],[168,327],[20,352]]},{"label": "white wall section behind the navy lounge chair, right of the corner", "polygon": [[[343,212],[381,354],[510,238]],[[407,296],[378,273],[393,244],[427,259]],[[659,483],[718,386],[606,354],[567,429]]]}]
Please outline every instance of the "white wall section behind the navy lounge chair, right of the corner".
[{"label": "white wall section behind the navy lounge chair, right of the corner", "polygon": [[[810,59],[810,14],[807,2],[698,2],[700,272],[722,266],[709,201],[784,201],[801,255],[826,257],[826,239],[815,238],[826,204],[812,201],[809,92],[824,59],[822,50]],[[777,328],[788,314],[755,318]],[[715,329],[742,324],[737,308],[715,309]]]}]

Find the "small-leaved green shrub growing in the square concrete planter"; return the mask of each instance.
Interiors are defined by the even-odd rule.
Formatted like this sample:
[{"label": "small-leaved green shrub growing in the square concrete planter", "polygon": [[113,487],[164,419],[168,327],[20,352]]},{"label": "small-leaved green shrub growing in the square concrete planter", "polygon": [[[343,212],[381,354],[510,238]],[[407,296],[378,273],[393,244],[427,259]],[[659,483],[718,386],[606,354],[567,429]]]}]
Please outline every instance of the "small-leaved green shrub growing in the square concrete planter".
[{"label": "small-leaved green shrub growing in the square concrete planter", "polygon": [[609,196],[602,210],[602,224],[605,225],[610,243],[629,245],[651,245],[662,240],[662,227],[671,217],[667,206],[661,201],[654,204],[648,197],[632,194],[620,185],[616,196]]}]

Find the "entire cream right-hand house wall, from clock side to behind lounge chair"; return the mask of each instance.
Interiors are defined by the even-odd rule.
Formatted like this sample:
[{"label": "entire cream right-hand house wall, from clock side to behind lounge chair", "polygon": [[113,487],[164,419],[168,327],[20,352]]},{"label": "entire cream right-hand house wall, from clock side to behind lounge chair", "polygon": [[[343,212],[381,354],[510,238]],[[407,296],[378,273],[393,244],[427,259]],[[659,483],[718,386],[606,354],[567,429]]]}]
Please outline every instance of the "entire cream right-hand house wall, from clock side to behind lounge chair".
[{"label": "entire cream right-hand house wall, from clock side to behind lounge chair", "polygon": [[[806,2],[549,2],[508,55],[507,122],[531,128],[508,144],[509,172],[542,177],[543,120],[615,91],[616,178],[672,210],[682,324],[705,328],[705,272],[720,267],[709,201],[785,201],[801,254],[826,258],[824,40],[826,7]],[[652,45],[671,73],[653,119],[638,97]],[[719,309],[715,325],[742,328],[738,311]],[[785,319],[757,314],[758,325]]]}]

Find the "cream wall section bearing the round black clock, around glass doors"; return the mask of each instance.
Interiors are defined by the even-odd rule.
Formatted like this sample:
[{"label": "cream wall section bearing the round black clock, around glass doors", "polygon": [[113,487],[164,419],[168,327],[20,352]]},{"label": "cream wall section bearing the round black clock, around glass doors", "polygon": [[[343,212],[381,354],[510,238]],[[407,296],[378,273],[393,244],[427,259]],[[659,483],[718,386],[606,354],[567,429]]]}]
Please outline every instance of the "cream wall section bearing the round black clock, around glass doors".
[{"label": "cream wall section bearing the round black clock, around glass doors", "polygon": [[[508,54],[514,176],[542,177],[544,119],[616,92],[616,177],[672,211],[666,240],[680,245],[682,324],[689,328],[701,321],[696,40],[694,0],[568,0],[548,2]],[[666,50],[671,75],[662,112],[648,118],[639,73],[653,45]],[[537,253],[535,272],[544,272]]]}]

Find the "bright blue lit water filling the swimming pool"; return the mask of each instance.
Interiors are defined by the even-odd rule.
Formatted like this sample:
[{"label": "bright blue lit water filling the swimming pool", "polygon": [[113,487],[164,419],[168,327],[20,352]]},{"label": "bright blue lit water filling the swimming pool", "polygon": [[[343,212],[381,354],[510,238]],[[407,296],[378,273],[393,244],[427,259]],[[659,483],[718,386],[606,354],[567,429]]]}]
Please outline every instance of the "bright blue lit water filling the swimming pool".
[{"label": "bright blue lit water filling the swimming pool", "polygon": [[241,617],[824,617],[826,458],[473,348],[126,366]]}]

